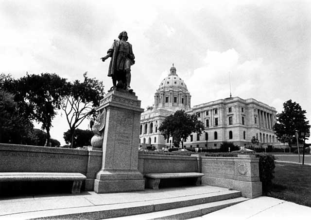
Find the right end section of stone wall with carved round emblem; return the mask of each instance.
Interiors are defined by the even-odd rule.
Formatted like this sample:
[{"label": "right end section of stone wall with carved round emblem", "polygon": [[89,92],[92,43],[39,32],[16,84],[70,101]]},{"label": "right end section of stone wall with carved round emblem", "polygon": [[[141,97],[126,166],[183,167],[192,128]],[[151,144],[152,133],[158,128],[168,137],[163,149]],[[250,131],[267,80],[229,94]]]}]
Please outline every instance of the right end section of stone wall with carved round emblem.
[{"label": "right end section of stone wall with carved round emblem", "polygon": [[259,179],[259,158],[247,155],[238,157],[201,157],[202,184],[242,192],[243,197],[262,195]]}]

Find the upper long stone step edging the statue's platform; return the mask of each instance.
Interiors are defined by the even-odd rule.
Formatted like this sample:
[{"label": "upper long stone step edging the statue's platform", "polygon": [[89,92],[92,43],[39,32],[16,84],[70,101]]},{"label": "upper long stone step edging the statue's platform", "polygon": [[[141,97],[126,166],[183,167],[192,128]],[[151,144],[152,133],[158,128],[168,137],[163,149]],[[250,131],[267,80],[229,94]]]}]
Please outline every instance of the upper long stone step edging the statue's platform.
[{"label": "upper long stone step edging the statue's platform", "polygon": [[[128,202],[118,204],[104,204],[83,207],[61,208],[24,212],[3,216],[5,219],[107,219],[123,216],[155,213],[168,209],[184,209],[188,206],[214,203],[228,199],[241,197],[241,192],[236,190],[223,190],[211,193],[202,193],[189,196],[177,196],[173,198],[141,200],[140,202]],[[217,210],[217,209],[215,209]],[[202,213],[196,212],[196,213]],[[200,214],[201,215],[201,214]],[[0,218],[1,219],[1,218]]]}]

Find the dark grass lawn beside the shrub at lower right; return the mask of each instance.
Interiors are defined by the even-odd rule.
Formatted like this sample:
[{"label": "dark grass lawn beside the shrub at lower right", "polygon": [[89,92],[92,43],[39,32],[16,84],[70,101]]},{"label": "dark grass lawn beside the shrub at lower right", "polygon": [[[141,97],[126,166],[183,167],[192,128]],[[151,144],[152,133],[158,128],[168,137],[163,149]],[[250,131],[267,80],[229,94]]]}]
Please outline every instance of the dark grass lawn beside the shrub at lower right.
[{"label": "dark grass lawn beside the shrub at lower right", "polygon": [[276,162],[272,190],[267,196],[311,207],[311,166]]}]

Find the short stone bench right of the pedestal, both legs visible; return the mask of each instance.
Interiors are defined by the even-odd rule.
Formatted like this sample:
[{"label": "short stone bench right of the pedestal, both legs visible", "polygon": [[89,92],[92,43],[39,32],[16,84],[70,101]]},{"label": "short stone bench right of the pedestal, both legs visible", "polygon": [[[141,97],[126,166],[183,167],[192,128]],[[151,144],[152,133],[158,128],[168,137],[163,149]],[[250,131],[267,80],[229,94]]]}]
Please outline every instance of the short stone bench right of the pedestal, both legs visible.
[{"label": "short stone bench right of the pedestal, both legs visible", "polygon": [[173,178],[195,178],[194,185],[201,185],[201,177],[203,173],[145,173],[144,177],[147,181],[147,188],[159,189],[161,179],[173,179]]}]

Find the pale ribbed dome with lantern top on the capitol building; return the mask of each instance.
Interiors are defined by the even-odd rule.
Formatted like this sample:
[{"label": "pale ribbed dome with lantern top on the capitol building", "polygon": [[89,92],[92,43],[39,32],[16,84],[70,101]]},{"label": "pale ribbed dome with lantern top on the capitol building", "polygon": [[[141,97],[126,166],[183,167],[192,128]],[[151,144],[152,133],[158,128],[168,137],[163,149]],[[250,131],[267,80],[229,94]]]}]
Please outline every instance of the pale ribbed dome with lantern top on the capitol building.
[{"label": "pale ribbed dome with lantern top on the capitol building", "polygon": [[191,95],[186,83],[176,74],[176,68],[170,69],[170,74],[161,81],[155,93],[155,108],[181,110],[190,108]]}]

